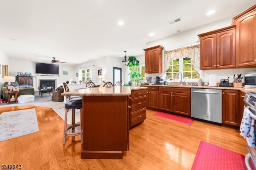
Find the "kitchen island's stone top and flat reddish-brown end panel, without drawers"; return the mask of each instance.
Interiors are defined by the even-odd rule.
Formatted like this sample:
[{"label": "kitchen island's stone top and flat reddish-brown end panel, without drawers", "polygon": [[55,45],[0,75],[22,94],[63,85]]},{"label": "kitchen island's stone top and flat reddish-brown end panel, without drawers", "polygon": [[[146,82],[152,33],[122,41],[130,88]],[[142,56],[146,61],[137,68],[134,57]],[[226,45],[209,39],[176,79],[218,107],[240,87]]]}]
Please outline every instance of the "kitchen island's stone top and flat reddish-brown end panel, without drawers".
[{"label": "kitchen island's stone top and flat reddish-brown end panel, without drawers", "polygon": [[129,149],[129,97],[127,86],[84,88],[62,93],[82,96],[82,152],[84,159],[122,159]]}]

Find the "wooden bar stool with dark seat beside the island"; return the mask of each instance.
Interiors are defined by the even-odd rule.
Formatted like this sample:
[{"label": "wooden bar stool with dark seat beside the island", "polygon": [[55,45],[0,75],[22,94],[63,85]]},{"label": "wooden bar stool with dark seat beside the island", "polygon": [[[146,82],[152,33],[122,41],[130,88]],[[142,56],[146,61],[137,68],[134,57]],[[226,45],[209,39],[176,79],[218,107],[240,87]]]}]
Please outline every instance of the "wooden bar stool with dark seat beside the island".
[{"label": "wooden bar stool with dark seat beside the island", "polygon": [[[72,109],[72,124],[67,127],[67,117],[68,111]],[[76,109],[80,109],[80,124],[75,123]],[[80,130],[76,127],[80,126]],[[80,135],[81,143],[82,142],[82,98],[74,98],[68,100],[65,104],[65,120],[64,120],[64,138],[63,145],[66,144],[66,136],[76,136]]]}]

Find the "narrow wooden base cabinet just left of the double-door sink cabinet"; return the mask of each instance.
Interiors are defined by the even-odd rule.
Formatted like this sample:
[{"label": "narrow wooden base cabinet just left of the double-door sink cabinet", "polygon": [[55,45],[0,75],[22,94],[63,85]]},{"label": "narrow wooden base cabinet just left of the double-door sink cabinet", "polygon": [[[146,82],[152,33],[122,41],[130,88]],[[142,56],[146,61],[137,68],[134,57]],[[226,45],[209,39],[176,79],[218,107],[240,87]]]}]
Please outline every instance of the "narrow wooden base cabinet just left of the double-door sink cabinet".
[{"label": "narrow wooden base cabinet just left of the double-door sink cabinet", "polygon": [[158,109],[158,87],[148,86],[148,107],[152,109]]}]

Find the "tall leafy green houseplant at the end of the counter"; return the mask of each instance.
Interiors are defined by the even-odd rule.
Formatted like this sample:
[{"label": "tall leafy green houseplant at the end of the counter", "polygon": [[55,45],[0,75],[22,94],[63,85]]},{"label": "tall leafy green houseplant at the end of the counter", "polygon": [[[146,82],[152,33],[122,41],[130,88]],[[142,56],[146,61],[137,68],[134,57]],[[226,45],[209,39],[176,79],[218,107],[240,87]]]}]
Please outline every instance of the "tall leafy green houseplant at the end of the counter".
[{"label": "tall leafy green houseplant at the end of the counter", "polygon": [[127,66],[129,66],[129,76],[130,76],[130,81],[133,82],[134,86],[138,86],[138,82],[140,80],[140,69],[139,69],[139,64],[140,62],[136,59],[134,56],[130,56],[128,58],[128,63]]}]

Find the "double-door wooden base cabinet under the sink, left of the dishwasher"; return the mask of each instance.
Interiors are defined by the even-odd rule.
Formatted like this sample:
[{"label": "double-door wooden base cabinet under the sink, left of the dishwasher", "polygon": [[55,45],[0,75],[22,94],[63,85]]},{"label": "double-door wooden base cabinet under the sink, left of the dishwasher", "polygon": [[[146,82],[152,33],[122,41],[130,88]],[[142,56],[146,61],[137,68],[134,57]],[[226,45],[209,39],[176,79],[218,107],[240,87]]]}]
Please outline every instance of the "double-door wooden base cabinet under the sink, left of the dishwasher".
[{"label": "double-door wooden base cabinet under the sink, left of the dishwasher", "polygon": [[190,88],[159,87],[159,109],[190,116]]}]

